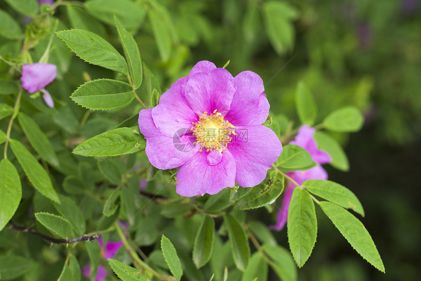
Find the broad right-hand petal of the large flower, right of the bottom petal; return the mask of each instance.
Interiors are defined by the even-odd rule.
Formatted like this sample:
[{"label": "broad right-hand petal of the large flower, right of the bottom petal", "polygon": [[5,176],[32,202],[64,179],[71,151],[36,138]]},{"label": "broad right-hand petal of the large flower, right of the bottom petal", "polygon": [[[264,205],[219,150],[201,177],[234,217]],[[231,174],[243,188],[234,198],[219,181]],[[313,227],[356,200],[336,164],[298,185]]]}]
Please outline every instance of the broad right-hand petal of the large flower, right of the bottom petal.
[{"label": "broad right-hand petal of the large flower, right of the bottom petal", "polygon": [[281,154],[281,141],[274,131],[262,125],[238,126],[235,133],[227,147],[237,167],[235,181],[242,187],[255,186]]}]

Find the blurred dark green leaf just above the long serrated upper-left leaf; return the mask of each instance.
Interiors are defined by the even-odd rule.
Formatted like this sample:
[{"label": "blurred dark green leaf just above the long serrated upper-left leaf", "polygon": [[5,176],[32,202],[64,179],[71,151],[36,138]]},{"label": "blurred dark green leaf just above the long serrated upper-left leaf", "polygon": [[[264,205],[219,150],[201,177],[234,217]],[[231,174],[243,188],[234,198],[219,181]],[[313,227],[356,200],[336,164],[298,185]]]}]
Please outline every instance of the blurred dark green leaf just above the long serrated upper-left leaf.
[{"label": "blurred dark green leaf just above the long serrated upper-left leaf", "polygon": [[66,9],[71,27],[94,32],[102,38],[107,36],[105,27],[81,7],[69,5]]}]

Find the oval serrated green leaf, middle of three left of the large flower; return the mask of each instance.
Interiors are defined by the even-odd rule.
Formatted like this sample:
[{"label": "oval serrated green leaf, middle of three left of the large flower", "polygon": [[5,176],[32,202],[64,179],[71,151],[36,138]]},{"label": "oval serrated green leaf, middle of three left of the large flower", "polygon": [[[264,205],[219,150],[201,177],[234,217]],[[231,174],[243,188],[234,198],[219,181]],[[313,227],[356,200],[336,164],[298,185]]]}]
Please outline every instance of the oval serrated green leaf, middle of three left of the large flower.
[{"label": "oval serrated green leaf, middle of three left of the large flower", "polygon": [[132,86],[127,83],[96,79],[80,85],[70,98],[77,104],[97,110],[108,110],[126,106],[135,98]]}]

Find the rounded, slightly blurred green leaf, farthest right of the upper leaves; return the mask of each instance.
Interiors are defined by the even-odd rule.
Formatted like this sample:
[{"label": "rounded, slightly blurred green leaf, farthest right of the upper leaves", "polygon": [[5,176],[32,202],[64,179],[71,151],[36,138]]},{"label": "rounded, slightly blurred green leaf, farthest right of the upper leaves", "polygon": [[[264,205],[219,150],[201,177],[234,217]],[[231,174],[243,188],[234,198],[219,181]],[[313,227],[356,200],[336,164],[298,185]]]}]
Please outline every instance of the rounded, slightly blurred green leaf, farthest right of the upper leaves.
[{"label": "rounded, slightly blurred green leaf, farthest right of the upper leaves", "polygon": [[356,132],[364,124],[361,112],[355,106],[339,108],[323,120],[323,126],[336,132]]}]

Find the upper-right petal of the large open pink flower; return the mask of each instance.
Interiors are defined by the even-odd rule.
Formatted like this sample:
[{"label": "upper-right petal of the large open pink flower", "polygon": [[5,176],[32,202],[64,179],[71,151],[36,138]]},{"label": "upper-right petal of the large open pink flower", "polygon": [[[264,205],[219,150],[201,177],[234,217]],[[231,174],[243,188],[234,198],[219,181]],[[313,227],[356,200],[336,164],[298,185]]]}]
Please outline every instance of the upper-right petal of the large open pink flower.
[{"label": "upper-right petal of the large open pink flower", "polygon": [[269,102],[263,94],[262,79],[254,72],[243,71],[234,77],[233,102],[225,119],[234,126],[261,125],[269,114]]}]

